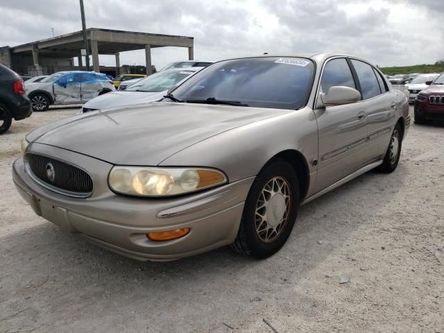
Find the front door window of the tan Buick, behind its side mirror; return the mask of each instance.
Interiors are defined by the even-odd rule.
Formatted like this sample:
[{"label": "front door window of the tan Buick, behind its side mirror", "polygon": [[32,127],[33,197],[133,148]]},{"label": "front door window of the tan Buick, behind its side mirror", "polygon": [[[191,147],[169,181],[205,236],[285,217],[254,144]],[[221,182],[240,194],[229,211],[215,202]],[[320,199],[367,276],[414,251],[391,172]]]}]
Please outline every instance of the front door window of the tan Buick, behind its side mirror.
[{"label": "front door window of the tan Buick, behind its side mirror", "polygon": [[345,58],[330,60],[324,67],[321,78],[322,92],[327,92],[327,90],[334,85],[343,85],[345,87],[356,89],[352,71]]}]

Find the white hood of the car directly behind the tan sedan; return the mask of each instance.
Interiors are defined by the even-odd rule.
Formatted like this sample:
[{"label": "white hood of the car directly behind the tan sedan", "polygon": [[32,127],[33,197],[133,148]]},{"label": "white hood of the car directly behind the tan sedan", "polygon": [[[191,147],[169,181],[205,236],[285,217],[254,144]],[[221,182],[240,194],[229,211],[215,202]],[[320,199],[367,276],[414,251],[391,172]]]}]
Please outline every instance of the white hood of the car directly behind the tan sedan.
[{"label": "white hood of the car directly behind the tan sedan", "polygon": [[165,92],[108,92],[97,96],[91,101],[87,101],[83,105],[83,108],[103,110],[108,108],[117,108],[119,106],[135,105],[140,103],[147,103],[152,101],[158,101],[162,99]]}]

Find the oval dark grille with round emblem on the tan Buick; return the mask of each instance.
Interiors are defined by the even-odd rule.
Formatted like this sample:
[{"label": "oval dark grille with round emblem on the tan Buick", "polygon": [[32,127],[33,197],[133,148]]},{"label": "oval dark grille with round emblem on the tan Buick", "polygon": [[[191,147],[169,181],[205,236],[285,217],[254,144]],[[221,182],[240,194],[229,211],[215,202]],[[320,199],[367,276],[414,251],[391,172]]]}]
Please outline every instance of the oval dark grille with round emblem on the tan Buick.
[{"label": "oval dark grille with round emblem on the tan Buick", "polygon": [[47,189],[78,198],[86,198],[92,194],[91,176],[74,164],[45,155],[27,153],[26,166],[35,181]]}]

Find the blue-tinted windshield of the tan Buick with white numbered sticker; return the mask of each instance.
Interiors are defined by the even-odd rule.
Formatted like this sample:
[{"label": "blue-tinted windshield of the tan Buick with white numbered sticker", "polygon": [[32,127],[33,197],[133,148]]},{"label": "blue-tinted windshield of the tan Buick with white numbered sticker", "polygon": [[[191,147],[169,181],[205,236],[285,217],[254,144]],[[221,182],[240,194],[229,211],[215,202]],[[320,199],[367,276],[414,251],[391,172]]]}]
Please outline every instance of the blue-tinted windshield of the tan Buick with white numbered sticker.
[{"label": "blue-tinted windshield of the tan Buick with white numbered sticker", "polygon": [[298,110],[307,104],[314,64],[305,58],[245,58],[216,62],[173,91],[189,103],[230,101]]}]

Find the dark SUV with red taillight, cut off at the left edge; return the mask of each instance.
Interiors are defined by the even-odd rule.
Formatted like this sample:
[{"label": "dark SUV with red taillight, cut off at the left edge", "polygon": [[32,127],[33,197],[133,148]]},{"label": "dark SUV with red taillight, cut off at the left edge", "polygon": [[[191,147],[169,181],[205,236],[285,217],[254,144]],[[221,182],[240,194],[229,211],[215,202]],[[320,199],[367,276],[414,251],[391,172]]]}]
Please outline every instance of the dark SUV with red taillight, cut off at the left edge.
[{"label": "dark SUV with red taillight, cut off at the left edge", "polygon": [[0,134],[10,128],[12,118],[25,119],[31,113],[31,101],[26,96],[22,78],[0,64]]}]

